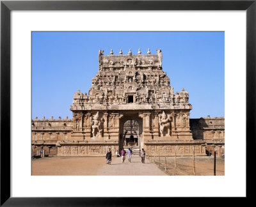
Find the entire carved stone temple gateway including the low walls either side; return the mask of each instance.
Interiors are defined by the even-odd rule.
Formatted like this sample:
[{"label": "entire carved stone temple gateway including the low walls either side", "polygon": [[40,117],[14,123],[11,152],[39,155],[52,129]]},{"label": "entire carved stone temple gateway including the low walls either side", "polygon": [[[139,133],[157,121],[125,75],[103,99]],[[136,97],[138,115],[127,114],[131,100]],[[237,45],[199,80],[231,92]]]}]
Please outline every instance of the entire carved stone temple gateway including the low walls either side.
[{"label": "entire carved stone temple gateway including the low walls either side", "polygon": [[189,119],[184,88],[173,92],[156,54],[99,50],[99,71],[88,94],[74,93],[72,119],[32,119],[32,156],[104,156],[132,148],[147,155],[211,155],[224,151],[224,118]]}]

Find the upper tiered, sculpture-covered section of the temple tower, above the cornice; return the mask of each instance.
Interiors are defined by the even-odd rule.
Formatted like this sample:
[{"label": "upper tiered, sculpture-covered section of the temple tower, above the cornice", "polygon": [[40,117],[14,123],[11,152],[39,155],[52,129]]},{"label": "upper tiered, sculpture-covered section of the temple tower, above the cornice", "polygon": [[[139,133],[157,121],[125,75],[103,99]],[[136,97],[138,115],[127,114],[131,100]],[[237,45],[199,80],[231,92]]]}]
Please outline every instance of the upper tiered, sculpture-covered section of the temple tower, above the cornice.
[{"label": "upper tiered, sculpture-covered section of the temple tower, above the cornice", "polygon": [[132,93],[134,102],[138,104],[190,105],[187,91],[182,89],[173,95],[170,79],[161,70],[161,49],[157,54],[148,50],[146,55],[140,50],[136,55],[131,50],[126,56],[122,50],[119,55],[112,53],[113,50],[110,55],[104,55],[103,50],[99,50],[99,72],[92,79],[92,88],[88,95],[78,90],[71,109],[83,110],[88,104],[128,104],[127,93]]}]

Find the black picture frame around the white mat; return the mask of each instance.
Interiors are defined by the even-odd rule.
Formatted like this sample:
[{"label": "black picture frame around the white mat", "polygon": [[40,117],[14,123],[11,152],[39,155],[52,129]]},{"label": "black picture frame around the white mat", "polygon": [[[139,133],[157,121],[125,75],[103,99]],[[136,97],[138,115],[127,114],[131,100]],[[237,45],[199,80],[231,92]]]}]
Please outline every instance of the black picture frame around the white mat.
[{"label": "black picture frame around the white mat", "polygon": [[[1,1],[1,206],[144,206],[156,197],[10,197],[10,12],[12,10],[246,10],[246,197],[255,175],[256,0],[250,1]],[[238,109],[237,109],[237,112]],[[239,123],[237,123],[239,124]],[[191,188],[191,190],[193,190]],[[159,204],[161,204],[159,203]]]}]

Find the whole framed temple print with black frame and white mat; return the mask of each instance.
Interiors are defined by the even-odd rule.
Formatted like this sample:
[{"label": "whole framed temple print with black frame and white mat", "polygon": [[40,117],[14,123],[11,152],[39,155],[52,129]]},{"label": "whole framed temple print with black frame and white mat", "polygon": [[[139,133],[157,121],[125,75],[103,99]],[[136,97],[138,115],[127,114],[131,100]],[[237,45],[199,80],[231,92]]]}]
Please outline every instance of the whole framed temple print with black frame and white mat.
[{"label": "whole framed temple print with black frame and white mat", "polygon": [[[1,205],[143,206],[153,197],[250,197],[248,188],[255,179],[248,165],[255,150],[255,8],[255,1],[1,1]],[[177,42],[182,44],[175,46]],[[146,45],[154,46],[150,50]],[[195,66],[185,58],[191,54],[198,61]],[[221,64],[214,65],[218,58]],[[75,66],[75,59],[83,60],[81,65]],[[74,69],[95,68],[89,59],[96,59],[99,67],[92,69],[92,77],[88,69],[86,73]],[[175,70],[168,72],[163,66],[162,71],[162,61],[165,65],[172,61],[170,67],[179,68],[177,82],[180,86],[190,82],[195,92],[191,89],[188,95],[182,88],[173,92],[169,77],[175,77]],[[83,82],[86,89],[80,90]],[[219,106],[206,84],[220,88],[225,96],[225,128],[224,100]],[[67,102],[70,106],[61,100],[61,93],[74,95]],[[200,98],[206,103],[201,111],[208,103],[219,111],[223,107],[222,114],[191,119],[189,102],[193,100],[196,110]],[[52,108],[52,113],[70,107],[72,118],[41,115],[44,107],[49,112]],[[200,135],[210,141],[195,139]],[[108,156],[112,151],[123,159],[122,148],[129,148],[129,160],[122,160],[125,169],[130,171],[128,162],[137,159],[134,168],[145,166],[143,175],[148,176],[117,176],[121,158]],[[87,162],[79,169],[72,162],[84,155],[104,160],[106,156],[107,164],[112,164],[104,164],[94,176]],[[170,158],[176,174],[169,170],[168,175],[179,175],[176,155],[184,163],[189,157],[188,165],[194,165],[190,174],[153,176],[168,174]],[[195,160],[198,164],[207,155],[225,160],[223,170],[216,173],[214,161],[214,174],[199,173]],[[184,174],[186,169],[180,171]]]}]

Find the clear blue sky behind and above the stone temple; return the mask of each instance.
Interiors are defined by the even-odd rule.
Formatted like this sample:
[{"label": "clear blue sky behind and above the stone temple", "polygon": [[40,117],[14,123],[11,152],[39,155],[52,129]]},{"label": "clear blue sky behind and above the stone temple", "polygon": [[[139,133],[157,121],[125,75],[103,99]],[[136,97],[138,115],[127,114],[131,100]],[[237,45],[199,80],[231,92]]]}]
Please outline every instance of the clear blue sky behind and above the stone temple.
[{"label": "clear blue sky behind and above the stone temple", "polygon": [[88,93],[98,51],[163,52],[173,90],[189,92],[191,118],[224,116],[224,32],[33,32],[32,118],[72,118],[73,94]]}]

